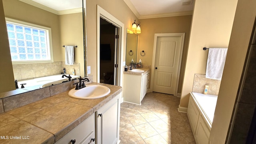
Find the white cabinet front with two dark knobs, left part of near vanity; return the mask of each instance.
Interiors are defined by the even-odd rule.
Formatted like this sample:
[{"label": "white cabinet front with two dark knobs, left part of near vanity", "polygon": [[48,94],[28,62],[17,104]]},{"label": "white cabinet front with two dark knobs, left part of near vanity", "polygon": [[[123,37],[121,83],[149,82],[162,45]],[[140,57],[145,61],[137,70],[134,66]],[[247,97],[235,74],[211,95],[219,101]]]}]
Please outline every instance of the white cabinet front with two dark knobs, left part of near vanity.
[{"label": "white cabinet front with two dark knobs, left part of near vanity", "polygon": [[96,139],[94,114],[76,126],[76,128],[71,130],[55,144],[72,144],[71,140],[75,140],[75,144],[95,144]]}]

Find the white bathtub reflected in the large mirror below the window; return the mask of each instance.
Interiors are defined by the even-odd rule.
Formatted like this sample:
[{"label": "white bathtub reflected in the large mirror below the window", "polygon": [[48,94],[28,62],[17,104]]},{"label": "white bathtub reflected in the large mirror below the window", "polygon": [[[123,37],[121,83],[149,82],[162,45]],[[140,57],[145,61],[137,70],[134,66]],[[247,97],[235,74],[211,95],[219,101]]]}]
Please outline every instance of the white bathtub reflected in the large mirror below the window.
[{"label": "white bathtub reflected in the large mirror below the window", "polygon": [[[44,77],[40,77],[40,78],[32,78],[32,79],[28,79],[28,80],[19,80],[18,81],[18,87],[21,88],[21,84],[24,84],[23,89],[27,89],[27,90],[35,90],[38,88],[44,88],[46,86],[51,86],[54,84],[60,84],[63,81],[68,80],[68,78],[64,77],[62,78],[63,74],[56,74],[56,75],[52,75],[52,76],[44,76]],[[66,76],[68,76],[68,74],[65,74]],[[72,79],[74,78],[79,78],[80,76],[76,76],[76,75],[71,75]]]}]

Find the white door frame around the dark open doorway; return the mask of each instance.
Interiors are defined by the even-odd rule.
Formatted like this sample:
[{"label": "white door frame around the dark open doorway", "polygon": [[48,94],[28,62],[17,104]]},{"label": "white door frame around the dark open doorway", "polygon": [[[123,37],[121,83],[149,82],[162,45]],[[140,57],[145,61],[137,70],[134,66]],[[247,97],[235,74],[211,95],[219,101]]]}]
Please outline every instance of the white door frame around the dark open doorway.
[{"label": "white door frame around the dark open doorway", "polygon": [[118,28],[118,46],[117,46],[117,72],[116,72],[116,86],[122,86],[123,72],[122,72],[122,60],[124,52],[124,24],[108,13],[106,10],[97,5],[97,82],[100,82],[100,18],[105,19]]}]

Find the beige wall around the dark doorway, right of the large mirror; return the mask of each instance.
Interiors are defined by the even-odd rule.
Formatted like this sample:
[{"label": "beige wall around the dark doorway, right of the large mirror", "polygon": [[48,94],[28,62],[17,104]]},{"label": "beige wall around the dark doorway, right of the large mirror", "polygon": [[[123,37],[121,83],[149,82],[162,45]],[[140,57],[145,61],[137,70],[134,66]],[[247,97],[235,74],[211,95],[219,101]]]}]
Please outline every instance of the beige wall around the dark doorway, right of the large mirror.
[{"label": "beige wall around the dark doorway, right of the large mirror", "polygon": [[[86,34],[87,34],[87,66],[91,66],[93,81],[97,81],[97,4],[112,16],[116,17],[124,24],[124,29],[131,29],[132,22],[136,16],[123,0],[86,0]],[[124,34],[124,45],[126,44],[126,34]],[[126,46],[124,46],[124,55]],[[125,56],[123,61],[125,61]]]}]

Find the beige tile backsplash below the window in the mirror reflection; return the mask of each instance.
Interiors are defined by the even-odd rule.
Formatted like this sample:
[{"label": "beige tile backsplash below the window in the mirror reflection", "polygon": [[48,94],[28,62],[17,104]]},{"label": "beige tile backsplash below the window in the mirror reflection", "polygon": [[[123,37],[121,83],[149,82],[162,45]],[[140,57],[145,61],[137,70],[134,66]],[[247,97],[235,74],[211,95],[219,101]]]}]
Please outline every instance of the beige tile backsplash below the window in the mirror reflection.
[{"label": "beige tile backsplash below the window in the mirror reflection", "polygon": [[67,74],[72,74],[72,69],[74,69],[75,75],[80,76],[79,63],[74,63],[73,65],[66,65],[65,62],[13,64],[12,67],[15,80],[25,80],[29,78],[60,74],[63,72],[63,68],[66,68]]}]

